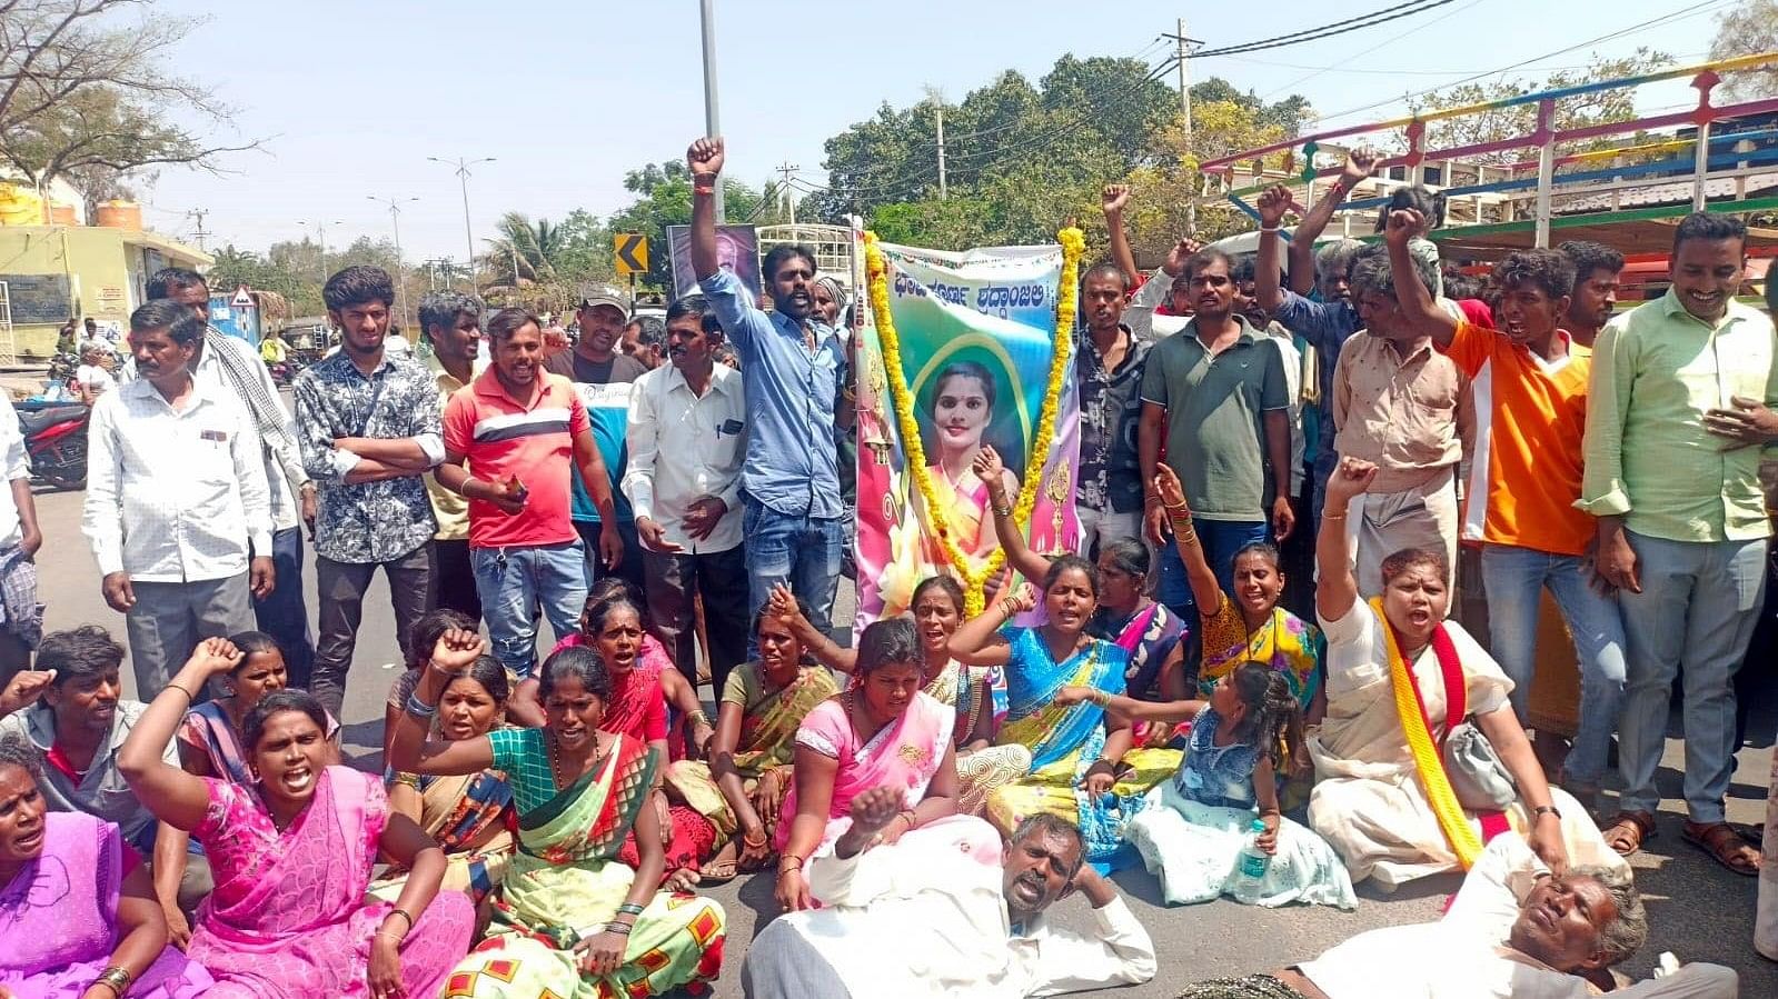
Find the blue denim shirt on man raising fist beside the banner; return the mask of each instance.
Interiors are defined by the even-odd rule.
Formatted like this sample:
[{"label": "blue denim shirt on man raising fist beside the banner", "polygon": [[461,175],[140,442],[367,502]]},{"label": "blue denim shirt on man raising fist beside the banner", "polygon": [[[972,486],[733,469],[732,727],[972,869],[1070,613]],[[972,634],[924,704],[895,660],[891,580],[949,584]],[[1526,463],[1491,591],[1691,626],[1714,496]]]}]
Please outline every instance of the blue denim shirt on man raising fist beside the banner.
[{"label": "blue denim shirt on man raising fist beside the banner", "polygon": [[811,320],[814,352],[784,313],[765,313],[727,270],[699,283],[741,361],[747,460],[741,489],[786,515],[837,519],[839,457],[834,409],[846,356],[834,329]]}]

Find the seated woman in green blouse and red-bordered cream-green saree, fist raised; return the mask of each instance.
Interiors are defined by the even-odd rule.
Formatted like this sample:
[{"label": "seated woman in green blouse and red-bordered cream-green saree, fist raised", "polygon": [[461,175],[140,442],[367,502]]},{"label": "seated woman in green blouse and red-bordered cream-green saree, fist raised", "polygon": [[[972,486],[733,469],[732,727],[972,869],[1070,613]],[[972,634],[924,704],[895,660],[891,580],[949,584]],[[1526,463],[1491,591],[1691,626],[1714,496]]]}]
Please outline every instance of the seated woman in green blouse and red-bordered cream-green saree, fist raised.
[{"label": "seated woman in green blouse and red-bordered cream-green saree, fist raised", "polygon": [[[482,649],[473,631],[446,633],[391,738],[391,763],[402,771],[507,773],[519,812],[517,853],[491,896],[494,923],[450,976],[450,995],[640,999],[706,990],[722,967],[722,907],[656,891],[665,860],[647,802],[663,754],[599,729],[612,681],[597,654],[564,649],[544,659],[539,691],[549,720],[542,729],[427,741],[452,677]],[[640,846],[637,867],[617,859],[631,832]]]}]

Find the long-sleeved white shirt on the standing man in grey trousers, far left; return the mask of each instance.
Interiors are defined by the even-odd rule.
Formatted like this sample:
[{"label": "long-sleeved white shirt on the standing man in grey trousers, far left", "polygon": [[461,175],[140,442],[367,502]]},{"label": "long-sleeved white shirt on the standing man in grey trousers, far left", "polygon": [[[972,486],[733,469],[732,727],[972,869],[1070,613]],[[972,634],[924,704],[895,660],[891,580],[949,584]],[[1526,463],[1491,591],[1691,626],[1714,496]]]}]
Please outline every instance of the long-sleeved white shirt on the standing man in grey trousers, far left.
[{"label": "long-sleeved white shirt on the standing man in grey trousers, far left", "polygon": [[92,407],[82,533],[100,572],[133,581],[226,579],[247,544],[272,551],[260,432],[231,393],[192,382],[183,411],[137,379]]}]

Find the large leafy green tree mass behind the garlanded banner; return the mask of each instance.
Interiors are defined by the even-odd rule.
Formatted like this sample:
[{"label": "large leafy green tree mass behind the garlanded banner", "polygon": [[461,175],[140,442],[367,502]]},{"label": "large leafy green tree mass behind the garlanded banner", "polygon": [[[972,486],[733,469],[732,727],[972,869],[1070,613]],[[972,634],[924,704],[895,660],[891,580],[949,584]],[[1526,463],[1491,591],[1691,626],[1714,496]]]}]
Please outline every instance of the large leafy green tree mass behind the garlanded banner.
[{"label": "large leafy green tree mass behind the garlanded banner", "polygon": [[1102,245],[1099,188],[1127,178],[1145,192],[1147,242],[1165,251],[1184,231],[1198,160],[1294,137],[1314,119],[1300,94],[1268,105],[1220,78],[1193,87],[1193,110],[1188,148],[1179,96],[1145,62],[1063,55],[1037,85],[1006,71],[944,108],[948,199],[928,100],[882,105],[829,139],[829,185],[809,201],[829,222],[857,212],[884,238],[941,249],[1049,242],[1069,217]]}]

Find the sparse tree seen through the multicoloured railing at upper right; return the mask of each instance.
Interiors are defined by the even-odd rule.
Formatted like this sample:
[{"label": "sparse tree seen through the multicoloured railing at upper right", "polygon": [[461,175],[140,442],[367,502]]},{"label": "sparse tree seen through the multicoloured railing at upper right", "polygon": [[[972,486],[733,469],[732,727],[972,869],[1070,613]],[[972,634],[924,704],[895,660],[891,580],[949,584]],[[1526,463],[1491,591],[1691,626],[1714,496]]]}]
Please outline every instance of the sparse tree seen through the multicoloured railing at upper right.
[{"label": "sparse tree seen through the multicoloured railing at upper right", "polygon": [[[1414,114],[1428,110],[1444,110],[1454,107],[1479,105],[1486,101],[1497,101],[1502,98],[1518,98],[1526,94],[1534,94],[1540,91],[1554,91],[1561,87],[1575,87],[1581,84],[1598,84],[1604,80],[1618,80],[1623,76],[1636,76],[1641,73],[1654,73],[1655,69],[1664,69],[1673,64],[1673,57],[1664,52],[1654,52],[1648,48],[1638,48],[1634,53],[1618,59],[1600,59],[1593,57],[1591,64],[1575,73],[1570,69],[1552,73],[1542,82],[1529,82],[1522,78],[1499,80],[1492,84],[1463,84],[1458,87],[1449,87],[1430,94],[1426,98],[1408,101],[1408,108]],[[1572,98],[1561,98],[1556,101],[1556,128],[1586,128],[1590,124],[1611,124],[1618,121],[1636,119],[1636,92],[1630,87],[1616,91],[1593,91],[1588,94],[1577,94]],[[1472,146],[1481,142],[1501,142],[1506,139],[1517,139],[1520,135],[1529,135],[1536,130],[1538,123],[1538,105],[1524,103],[1513,107],[1502,107],[1494,110],[1485,110],[1478,114],[1467,114],[1462,117],[1449,117],[1431,123],[1426,128],[1424,149],[1451,149],[1458,146]],[[1579,144],[1574,148],[1563,148],[1563,153],[1575,153],[1586,148],[1606,148],[1622,144],[1622,137],[1606,137],[1590,144]],[[1401,140],[1406,148],[1406,140]],[[1478,156],[1465,156],[1469,162],[1479,164],[1517,164],[1527,158],[1526,149],[1502,149],[1499,153],[1483,153]]]}]

